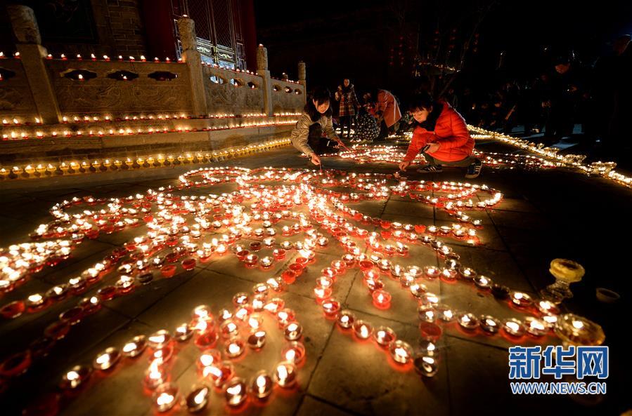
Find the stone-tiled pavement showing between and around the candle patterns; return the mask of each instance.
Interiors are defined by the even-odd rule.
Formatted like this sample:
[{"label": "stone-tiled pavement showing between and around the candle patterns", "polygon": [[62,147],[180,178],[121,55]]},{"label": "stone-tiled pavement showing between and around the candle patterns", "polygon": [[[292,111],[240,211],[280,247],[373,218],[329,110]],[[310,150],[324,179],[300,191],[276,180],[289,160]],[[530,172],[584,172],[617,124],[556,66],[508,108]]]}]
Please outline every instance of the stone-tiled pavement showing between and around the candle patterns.
[{"label": "stone-tiled pavement showing between and around the candle patterns", "polygon": [[[482,151],[514,152],[496,143],[477,145]],[[282,149],[250,159],[230,161],[231,166],[257,168],[262,166],[305,166],[293,149]],[[234,162],[234,163],[232,163]],[[354,166],[340,159],[325,159],[325,168],[342,168],[356,172],[392,173],[394,166],[362,164]],[[174,170],[174,173],[176,171]],[[81,184],[54,189],[17,189],[1,191],[0,184],[0,247],[28,240],[28,234],[38,224],[48,222],[48,209],[54,203],[73,196],[127,196],[145,192],[148,188],[176,184],[174,173],[163,178],[127,178],[124,182]],[[410,179],[415,175],[409,175]],[[445,169],[444,173],[424,177],[426,180],[463,181],[463,171]],[[385,359],[385,352],[373,342],[358,342],[323,318],[314,302],[314,279],[332,260],[340,258],[342,248],[333,243],[319,250],[317,262],[283,294],[288,307],[294,309],[304,327],[303,342],[307,361],[299,370],[299,387],[294,391],[276,390],[269,404],[250,405],[243,415],[619,415],[630,405],[624,386],[629,385],[627,371],[630,358],[624,354],[624,339],[629,326],[629,313],[623,304],[630,293],[630,269],[626,239],[632,233],[631,190],[606,180],[581,176],[562,170],[483,170],[477,184],[488,184],[503,192],[503,202],[494,209],[479,211],[484,221],[481,246],[469,247],[450,241],[460,254],[461,262],[479,274],[491,276],[510,288],[534,294],[552,283],[548,263],[556,257],[570,258],[583,264],[586,276],[572,286],[575,296],[567,300],[565,309],[600,323],[610,346],[610,378],[608,393],[600,403],[586,403],[565,396],[513,396],[508,380],[508,351],[511,345],[503,337],[468,335],[456,326],[446,326],[439,345],[442,349],[439,373],[422,378],[414,370],[401,371]],[[229,189],[228,187],[226,188]],[[181,191],[181,194],[224,192],[213,188]],[[361,207],[361,208],[360,208]],[[448,224],[449,217],[439,210],[420,203],[392,196],[386,201],[357,204],[353,208],[385,220],[403,223]],[[373,231],[373,228],[369,228]],[[31,293],[43,293],[55,284],[63,283],[79,271],[91,267],[112,248],[134,236],[123,232],[86,241],[69,260],[56,267],[40,271],[34,278],[11,293],[1,295],[0,306],[24,299]],[[289,261],[289,260],[288,260]],[[400,264],[437,264],[440,260],[427,248],[420,248]],[[287,263],[286,263],[287,264]],[[271,272],[246,270],[234,257],[207,264],[199,263],[173,279],[161,279],[141,286],[129,297],[108,302],[102,311],[85,318],[70,334],[54,347],[51,354],[25,375],[12,381],[0,396],[3,414],[19,412],[25,403],[46,391],[53,391],[60,375],[77,363],[91,363],[105,347],[117,347],[138,333],[150,334],[161,328],[172,329],[186,321],[193,307],[209,304],[213,311],[230,307],[238,292],[250,292],[264,276],[277,276],[285,267],[278,264]],[[385,279],[387,280],[387,279]],[[89,290],[89,294],[103,283]],[[392,285],[387,282],[387,285]],[[491,314],[498,318],[521,317],[493,297],[480,294],[471,285],[428,283],[430,290],[460,310],[476,314]],[[623,300],[604,304],[595,298],[595,288],[616,290]],[[401,339],[416,346],[419,339],[415,303],[401,290],[391,290],[392,307],[373,307],[363,286],[359,269],[353,269],[339,279],[335,297],[352,309],[359,318],[373,326],[389,326]],[[83,296],[83,295],[82,295]],[[60,311],[76,304],[78,297],[65,300],[39,312],[25,314],[13,321],[0,321],[0,357],[24,349]],[[266,318],[269,319],[269,318]],[[269,321],[265,321],[269,325]],[[271,367],[278,361],[283,344],[278,331],[269,331],[266,347],[258,353],[247,351],[237,360],[239,375],[250,377],[254,370]],[[531,340],[531,342],[538,342]],[[541,343],[556,342],[546,337]],[[193,342],[181,345],[172,370],[172,381],[186,394],[196,381],[195,359],[198,349]],[[153,415],[150,396],[143,393],[142,378],[148,366],[146,356],[137,361],[124,361],[114,371],[91,385],[60,411],[61,415]],[[624,378],[625,377],[625,378]],[[226,401],[214,391],[207,410],[202,415],[234,413]],[[171,414],[184,415],[186,410]]]}]

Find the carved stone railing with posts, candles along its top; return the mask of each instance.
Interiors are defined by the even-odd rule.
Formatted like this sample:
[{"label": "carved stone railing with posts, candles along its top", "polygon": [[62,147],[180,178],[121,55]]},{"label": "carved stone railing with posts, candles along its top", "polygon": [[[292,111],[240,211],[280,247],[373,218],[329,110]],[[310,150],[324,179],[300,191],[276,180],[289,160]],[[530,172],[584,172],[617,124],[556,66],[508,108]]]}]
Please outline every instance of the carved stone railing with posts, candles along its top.
[{"label": "carved stone railing with posts, candles along its top", "polygon": [[[27,6],[8,6],[18,55],[0,59],[0,119],[53,125],[68,114],[103,120],[126,114],[177,112],[188,116],[273,116],[302,111],[301,81],[272,79],[267,51],[259,46],[257,74],[205,65],[196,50],[195,22],[178,22],[182,62],[144,62],[131,57],[52,57],[40,44]],[[72,58],[72,59],[71,59]],[[6,126],[0,125],[6,134]]]}]

